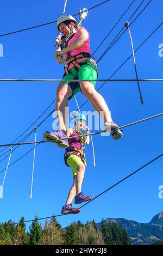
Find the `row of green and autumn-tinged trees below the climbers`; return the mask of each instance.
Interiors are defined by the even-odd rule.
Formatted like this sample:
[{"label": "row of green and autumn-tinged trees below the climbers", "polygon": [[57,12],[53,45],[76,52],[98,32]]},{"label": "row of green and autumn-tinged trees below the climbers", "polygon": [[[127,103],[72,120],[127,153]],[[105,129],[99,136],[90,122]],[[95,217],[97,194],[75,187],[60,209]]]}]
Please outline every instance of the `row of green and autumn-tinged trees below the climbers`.
[{"label": "row of green and autumn-tinged trees below the climbers", "polygon": [[72,222],[62,228],[55,217],[46,220],[42,226],[38,218],[26,227],[24,217],[20,223],[11,220],[0,224],[0,245],[130,245],[126,230],[116,223],[107,223],[104,219],[97,227],[94,220]]}]

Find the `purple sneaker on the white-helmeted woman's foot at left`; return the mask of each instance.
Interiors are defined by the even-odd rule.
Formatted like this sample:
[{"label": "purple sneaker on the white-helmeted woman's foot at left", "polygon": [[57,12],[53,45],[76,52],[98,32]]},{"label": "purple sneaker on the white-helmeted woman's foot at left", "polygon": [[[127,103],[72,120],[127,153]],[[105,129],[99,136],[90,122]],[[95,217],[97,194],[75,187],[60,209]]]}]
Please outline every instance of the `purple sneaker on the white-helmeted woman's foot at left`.
[{"label": "purple sneaker on the white-helmeted woman's foot at left", "polygon": [[68,148],[68,139],[57,141],[61,138],[67,138],[67,136],[61,129],[55,132],[43,132],[43,138],[45,138],[47,141],[57,144],[61,148]]}]

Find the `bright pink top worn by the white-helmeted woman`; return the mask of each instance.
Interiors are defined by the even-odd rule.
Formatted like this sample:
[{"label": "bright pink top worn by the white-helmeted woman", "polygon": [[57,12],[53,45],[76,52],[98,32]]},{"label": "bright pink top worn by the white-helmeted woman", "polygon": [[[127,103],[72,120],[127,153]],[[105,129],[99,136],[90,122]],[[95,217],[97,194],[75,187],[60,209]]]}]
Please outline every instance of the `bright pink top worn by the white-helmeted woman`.
[{"label": "bright pink top worn by the white-helmeted woman", "polygon": [[[87,32],[86,28],[84,28],[84,27],[78,28],[77,32],[74,34],[74,36],[68,41],[68,45],[71,45],[73,41],[75,41],[75,40],[77,40],[79,38],[78,33],[79,33],[80,29],[85,29],[85,31]],[[89,35],[89,33],[88,33],[88,39],[85,42],[85,44],[83,46],[81,46],[81,47],[78,47],[78,48],[70,51],[69,53],[70,53],[71,56],[75,56],[75,55],[77,55],[80,52],[91,53],[91,50],[90,50],[90,35]],[[76,62],[78,62],[78,63],[79,62],[83,62],[84,59],[86,59],[86,58],[77,59]],[[72,66],[74,66],[74,65],[71,63],[68,66],[68,70],[71,69]]]}]

